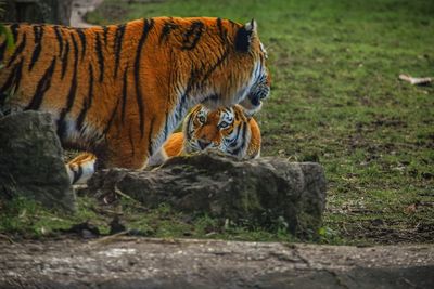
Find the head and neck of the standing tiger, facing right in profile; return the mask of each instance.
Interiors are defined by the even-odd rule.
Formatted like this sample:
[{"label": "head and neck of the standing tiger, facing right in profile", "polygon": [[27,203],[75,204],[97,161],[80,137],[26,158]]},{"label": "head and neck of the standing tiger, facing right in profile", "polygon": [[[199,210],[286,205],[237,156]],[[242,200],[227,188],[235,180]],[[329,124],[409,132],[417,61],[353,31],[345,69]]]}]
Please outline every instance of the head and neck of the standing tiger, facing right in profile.
[{"label": "head and neck of the standing tiger, facing right in profile", "polygon": [[241,104],[248,111],[258,110],[270,93],[270,75],[256,22],[241,25],[220,18],[201,21],[207,22],[202,35],[208,38],[197,41],[194,57],[200,58],[190,69],[189,80],[194,81],[189,88],[196,90],[199,102],[209,109]]}]

